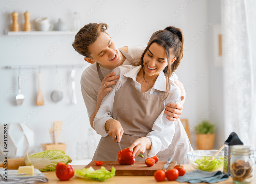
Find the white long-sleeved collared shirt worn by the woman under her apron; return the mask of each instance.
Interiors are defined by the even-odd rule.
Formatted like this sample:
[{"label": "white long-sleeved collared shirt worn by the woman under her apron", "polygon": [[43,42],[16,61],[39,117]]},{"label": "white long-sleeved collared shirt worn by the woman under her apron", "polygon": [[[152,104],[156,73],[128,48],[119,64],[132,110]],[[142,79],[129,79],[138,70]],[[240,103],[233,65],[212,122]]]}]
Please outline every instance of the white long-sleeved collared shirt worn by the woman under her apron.
[{"label": "white long-sleeved collared shirt worn by the woman under her apron", "polygon": [[[115,93],[118,91],[124,83],[127,81],[128,77],[132,78],[133,81],[131,84],[135,86],[138,91],[141,91],[141,84],[136,81],[138,72],[140,71],[141,66],[135,67],[132,65],[124,65],[116,67],[113,72],[116,72],[116,75],[120,75],[118,80],[115,80],[117,83],[112,86],[112,90],[103,98],[100,109],[98,110],[95,119],[93,121],[93,126],[95,131],[98,132],[102,137],[108,136],[105,130],[105,123],[112,118],[113,114],[113,103],[115,98]],[[158,95],[160,91],[166,91],[166,77],[162,71],[153,87],[149,89],[146,93],[153,95]],[[178,86],[170,81],[170,91],[167,98],[164,100],[164,104],[167,103],[181,103],[181,92]],[[125,97],[124,97],[125,98]],[[158,115],[156,121],[153,124],[153,131],[149,132],[146,137],[148,137],[152,142],[152,147],[149,156],[155,156],[159,151],[165,150],[172,142],[175,125],[174,122],[169,121],[164,115],[165,109]]]}]

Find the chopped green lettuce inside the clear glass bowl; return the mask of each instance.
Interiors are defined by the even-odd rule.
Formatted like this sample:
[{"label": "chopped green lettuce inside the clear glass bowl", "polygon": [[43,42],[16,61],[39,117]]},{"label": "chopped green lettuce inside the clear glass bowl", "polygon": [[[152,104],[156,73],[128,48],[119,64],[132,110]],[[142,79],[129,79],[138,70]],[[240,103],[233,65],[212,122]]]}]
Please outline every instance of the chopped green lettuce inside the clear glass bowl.
[{"label": "chopped green lettuce inside the clear glass bowl", "polygon": [[224,163],[224,157],[221,157],[220,159],[209,159],[209,156],[205,156],[203,159],[197,159],[195,163],[198,165],[197,169],[205,170],[205,171],[212,171],[215,169],[223,167]]}]

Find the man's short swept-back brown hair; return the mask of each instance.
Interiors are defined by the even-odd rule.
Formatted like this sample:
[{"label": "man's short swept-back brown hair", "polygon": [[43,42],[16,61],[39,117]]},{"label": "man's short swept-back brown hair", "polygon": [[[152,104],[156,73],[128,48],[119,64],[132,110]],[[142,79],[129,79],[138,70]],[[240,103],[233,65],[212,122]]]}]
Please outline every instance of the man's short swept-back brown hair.
[{"label": "man's short swept-back brown hair", "polygon": [[105,23],[90,23],[85,25],[77,32],[75,40],[72,43],[73,48],[82,56],[91,58],[91,51],[88,47],[98,39],[101,32],[106,32],[107,29],[108,24]]}]

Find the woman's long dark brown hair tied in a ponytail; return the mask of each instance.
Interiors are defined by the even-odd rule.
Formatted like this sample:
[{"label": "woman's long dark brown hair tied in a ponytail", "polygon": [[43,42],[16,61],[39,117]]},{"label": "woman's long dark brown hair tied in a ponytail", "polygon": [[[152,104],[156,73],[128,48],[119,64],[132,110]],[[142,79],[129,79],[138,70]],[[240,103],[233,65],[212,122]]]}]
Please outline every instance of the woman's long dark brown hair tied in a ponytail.
[{"label": "woman's long dark brown hair tied in a ponytail", "polygon": [[[143,77],[145,78],[145,71],[144,71],[144,63],[143,58],[152,43],[157,43],[159,46],[162,46],[166,50],[167,56],[167,66],[163,70],[166,75],[166,92],[164,95],[163,100],[165,100],[169,94],[170,83],[169,78],[172,76],[173,72],[177,69],[178,65],[180,64],[180,60],[183,57],[183,34],[181,29],[175,28],[173,26],[169,26],[164,30],[159,30],[153,33],[149,40],[149,44],[147,45],[146,49],[142,53],[140,64],[142,66]],[[171,58],[172,57],[172,58]],[[176,60],[171,64],[170,60],[176,57]]]}]

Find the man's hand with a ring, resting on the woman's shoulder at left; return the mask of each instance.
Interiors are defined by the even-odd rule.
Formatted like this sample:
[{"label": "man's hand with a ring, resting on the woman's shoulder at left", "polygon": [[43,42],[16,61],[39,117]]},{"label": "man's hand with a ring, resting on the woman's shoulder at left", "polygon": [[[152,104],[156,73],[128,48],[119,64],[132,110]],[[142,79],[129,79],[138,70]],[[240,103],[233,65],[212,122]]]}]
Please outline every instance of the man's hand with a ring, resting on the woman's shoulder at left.
[{"label": "man's hand with a ring, resting on the woman's shoulder at left", "polygon": [[[99,91],[98,91],[98,95],[97,95],[97,103],[100,105],[103,98],[106,96],[106,94],[112,90],[112,87],[109,87],[111,85],[116,84],[115,79],[119,78],[119,75],[115,76],[115,72],[109,73],[105,76],[105,78],[103,79]],[[88,79],[89,80],[89,79]]]}]

